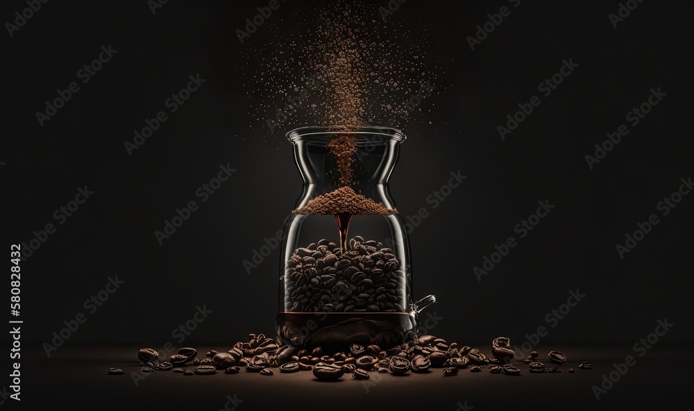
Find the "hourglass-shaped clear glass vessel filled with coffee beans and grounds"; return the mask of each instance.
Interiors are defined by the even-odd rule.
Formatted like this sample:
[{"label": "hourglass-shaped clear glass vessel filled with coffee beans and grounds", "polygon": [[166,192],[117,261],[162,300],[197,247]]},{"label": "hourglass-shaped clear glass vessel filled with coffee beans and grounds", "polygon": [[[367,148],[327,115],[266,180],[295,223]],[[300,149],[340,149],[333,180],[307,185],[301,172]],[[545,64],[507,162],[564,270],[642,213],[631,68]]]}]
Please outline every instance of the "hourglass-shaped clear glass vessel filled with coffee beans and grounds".
[{"label": "hourglass-shaped clear glass vessel filled with coffee beans and grounds", "polygon": [[282,240],[278,341],[326,352],[412,342],[409,238],[388,188],[405,135],[304,127],[287,138],[303,192]]}]

